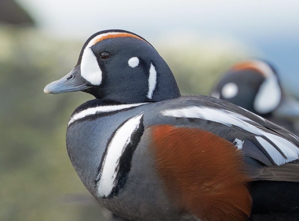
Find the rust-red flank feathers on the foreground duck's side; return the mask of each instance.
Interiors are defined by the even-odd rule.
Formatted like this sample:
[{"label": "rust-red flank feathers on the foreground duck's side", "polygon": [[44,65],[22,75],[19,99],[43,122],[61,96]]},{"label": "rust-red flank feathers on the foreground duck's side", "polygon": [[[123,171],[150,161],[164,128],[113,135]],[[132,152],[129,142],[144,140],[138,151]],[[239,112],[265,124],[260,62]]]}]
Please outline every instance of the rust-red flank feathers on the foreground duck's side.
[{"label": "rust-red flank feathers on the foreground duck's side", "polygon": [[232,143],[200,129],[152,126],[151,150],[166,193],[200,220],[246,220],[251,197],[242,156]]}]

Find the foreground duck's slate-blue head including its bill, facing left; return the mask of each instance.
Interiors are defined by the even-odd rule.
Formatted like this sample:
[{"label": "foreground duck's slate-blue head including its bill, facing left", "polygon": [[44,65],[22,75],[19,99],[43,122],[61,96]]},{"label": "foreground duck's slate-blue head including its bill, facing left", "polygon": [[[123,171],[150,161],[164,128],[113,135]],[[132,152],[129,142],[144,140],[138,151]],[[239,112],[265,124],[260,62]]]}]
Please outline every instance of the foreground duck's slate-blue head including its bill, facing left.
[{"label": "foreground duck's slate-blue head including its bill, facing left", "polygon": [[74,91],[116,103],[157,102],[181,96],[170,68],[154,47],[124,30],[90,36],[75,68],[44,89],[48,94]]}]

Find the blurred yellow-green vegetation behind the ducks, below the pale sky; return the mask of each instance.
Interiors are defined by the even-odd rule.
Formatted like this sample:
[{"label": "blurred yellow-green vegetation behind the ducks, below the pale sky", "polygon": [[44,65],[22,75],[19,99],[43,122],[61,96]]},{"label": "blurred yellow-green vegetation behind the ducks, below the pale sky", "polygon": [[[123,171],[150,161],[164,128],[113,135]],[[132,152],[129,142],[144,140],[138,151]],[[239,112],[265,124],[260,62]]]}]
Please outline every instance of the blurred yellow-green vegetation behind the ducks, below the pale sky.
[{"label": "blurred yellow-green vegetation behind the ducks, below the pale sky", "polygon": [[[216,78],[246,56],[216,40],[157,42],[182,94],[209,94]],[[65,147],[70,114],[93,97],[43,93],[74,67],[83,43],[0,26],[0,220],[109,219],[81,183]]]}]

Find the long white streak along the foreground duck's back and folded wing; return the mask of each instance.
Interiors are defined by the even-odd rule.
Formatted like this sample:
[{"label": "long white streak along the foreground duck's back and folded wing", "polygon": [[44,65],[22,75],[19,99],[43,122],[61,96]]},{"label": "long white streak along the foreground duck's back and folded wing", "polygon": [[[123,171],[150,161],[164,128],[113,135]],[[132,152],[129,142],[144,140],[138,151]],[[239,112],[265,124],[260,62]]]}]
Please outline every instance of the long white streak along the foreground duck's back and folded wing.
[{"label": "long white streak along the foreground duck's back and folded wing", "polygon": [[[253,124],[256,123],[250,120],[249,118],[229,110],[191,106],[180,109],[164,110],[161,111],[161,113],[164,116],[171,116],[177,118],[201,118],[217,123],[222,123],[229,127],[237,126],[255,135],[265,136],[269,140],[271,140],[287,156],[286,159],[275,147],[273,147],[269,142],[263,139],[263,137],[258,138],[258,142],[260,142],[260,144],[270,154],[270,156],[273,158],[277,165],[297,160],[299,157],[299,148],[295,146],[292,142],[288,141],[283,137],[265,132],[262,129],[255,127]],[[252,122],[253,124],[250,124],[248,122]]]}]

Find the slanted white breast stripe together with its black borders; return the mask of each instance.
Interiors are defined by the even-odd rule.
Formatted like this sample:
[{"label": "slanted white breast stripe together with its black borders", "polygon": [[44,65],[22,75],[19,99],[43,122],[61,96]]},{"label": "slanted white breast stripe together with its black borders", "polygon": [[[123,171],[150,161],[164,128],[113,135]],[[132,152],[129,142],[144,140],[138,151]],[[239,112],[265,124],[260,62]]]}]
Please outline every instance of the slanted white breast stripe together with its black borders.
[{"label": "slanted white breast stripe together with its black borders", "polygon": [[111,197],[125,184],[133,153],[143,131],[143,114],[140,114],[123,122],[113,132],[95,180],[98,196]]}]

